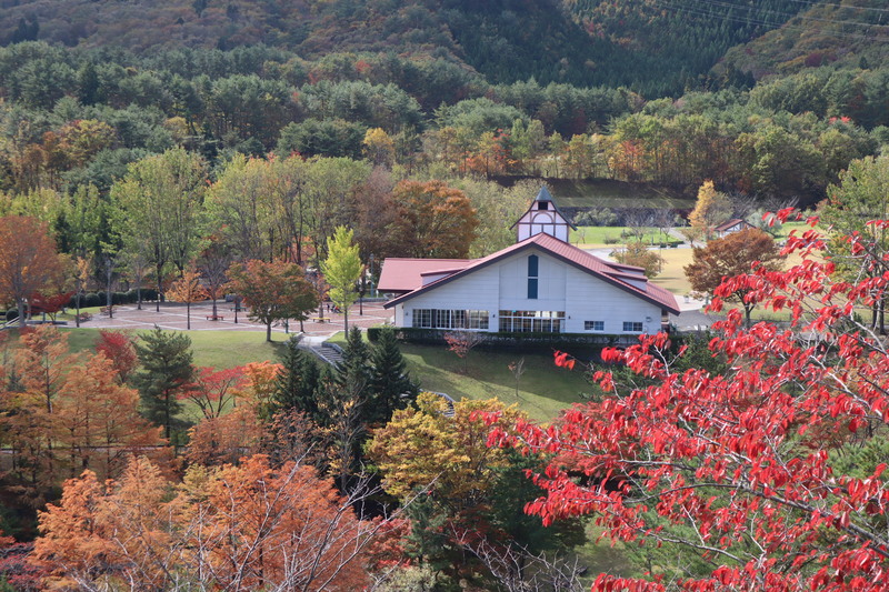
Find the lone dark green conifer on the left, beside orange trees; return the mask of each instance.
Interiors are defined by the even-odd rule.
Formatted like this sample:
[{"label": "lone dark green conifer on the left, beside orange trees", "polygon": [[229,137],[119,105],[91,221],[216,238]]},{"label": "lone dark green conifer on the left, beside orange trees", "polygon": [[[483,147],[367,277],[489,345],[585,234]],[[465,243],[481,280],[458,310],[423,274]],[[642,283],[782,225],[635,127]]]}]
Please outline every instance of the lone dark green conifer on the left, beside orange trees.
[{"label": "lone dark green conifer on the left, beside orange trees", "polygon": [[184,333],[154,328],[140,335],[136,353],[142,364],[133,379],[141,398],[142,415],[162,425],[163,437],[170,440],[173,430],[186,427],[176,415],[182,411],[179,394],[194,378],[191,340]]}]

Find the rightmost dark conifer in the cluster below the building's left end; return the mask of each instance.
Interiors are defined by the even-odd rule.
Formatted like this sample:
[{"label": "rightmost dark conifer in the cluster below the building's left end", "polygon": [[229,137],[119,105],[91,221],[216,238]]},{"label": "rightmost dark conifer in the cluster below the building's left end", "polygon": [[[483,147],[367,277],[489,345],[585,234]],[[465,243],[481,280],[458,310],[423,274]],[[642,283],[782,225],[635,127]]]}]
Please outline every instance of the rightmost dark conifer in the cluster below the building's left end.
[{"label": "rightmost dark conifer in the cluster below the building's left end", "polygon": [[408,407],[419,392],[417,383],[408,375],[407,362],[391,327],[380,331],[370,353],[370,367],[367,420],[371,425],[383,424],[394,410]]}]

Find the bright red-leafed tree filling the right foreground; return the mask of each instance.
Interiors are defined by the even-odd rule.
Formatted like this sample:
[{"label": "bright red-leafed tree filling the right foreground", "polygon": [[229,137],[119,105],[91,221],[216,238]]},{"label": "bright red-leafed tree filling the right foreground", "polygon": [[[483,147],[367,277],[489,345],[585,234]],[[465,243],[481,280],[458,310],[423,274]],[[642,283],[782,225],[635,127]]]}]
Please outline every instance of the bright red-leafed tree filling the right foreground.
[{"label": "bright red-leafed tree filling the right foreground", "polygon": [[720,374],[677,372],[681,350],[677,359],[666,334],[643,337],[603,358],[650,385],[623,389],[599,370],[613,395],[549,428],[492,434],[552,454],[535,475],[546,493],[527,508],[546,523],[591,514],[612,540],[697,555],[693,570],[683,559],[653,565],[650,580],[600,574],[593,590],[889,590],[889,349],[858,321],[889,288],[889,262],[872,241],[846,242],[862,271],[882,272],[835,281],[826,241],[809,230],[785,249],[801,263],[717,288],[717,310],[745,288],[792,318],[789,329],[748,329],[730,311],[709,344],[727,362]]}]

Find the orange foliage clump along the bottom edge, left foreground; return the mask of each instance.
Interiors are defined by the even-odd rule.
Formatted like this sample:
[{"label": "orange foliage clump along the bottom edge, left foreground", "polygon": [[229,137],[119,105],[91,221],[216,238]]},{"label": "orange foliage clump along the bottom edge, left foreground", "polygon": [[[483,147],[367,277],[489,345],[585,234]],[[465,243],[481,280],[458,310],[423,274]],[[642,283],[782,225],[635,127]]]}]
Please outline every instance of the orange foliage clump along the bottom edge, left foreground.
[{"label": "orange foliage clump along the bottom edge, left foreground", "polygon": [[309,466],[264,455],[193,466],[179,484],[134,459],[119,482],[90,471],[66,482],[39,514],[34,562],[61,588],[359,590],[370,543],[390,522],[359,520],[357,501]]}]

